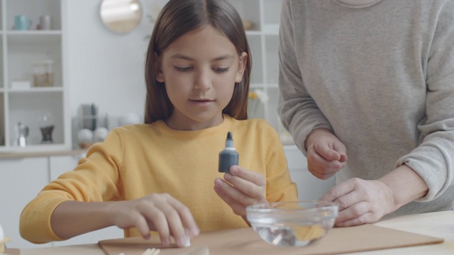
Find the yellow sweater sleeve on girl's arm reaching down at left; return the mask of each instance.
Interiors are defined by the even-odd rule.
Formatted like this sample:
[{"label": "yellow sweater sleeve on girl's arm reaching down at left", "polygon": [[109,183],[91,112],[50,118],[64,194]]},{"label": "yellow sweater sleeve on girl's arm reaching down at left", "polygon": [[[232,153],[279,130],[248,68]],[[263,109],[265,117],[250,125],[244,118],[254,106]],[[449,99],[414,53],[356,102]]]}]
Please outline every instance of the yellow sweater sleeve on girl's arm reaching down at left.
[{"label": "yellow sweater sleeve on girl's arm reaching down at left", "polygon": [[87,157],[82,158],[73,171],[62,174],[45,186],[21,213],[21,236],[36,244],[62,240],[52,231],[50,217],[65,200],[118,200],[118,188],[121,188],[118,166],[121,166],[122,148],[120,136],[111,132],[103,143],[89,149]]}]

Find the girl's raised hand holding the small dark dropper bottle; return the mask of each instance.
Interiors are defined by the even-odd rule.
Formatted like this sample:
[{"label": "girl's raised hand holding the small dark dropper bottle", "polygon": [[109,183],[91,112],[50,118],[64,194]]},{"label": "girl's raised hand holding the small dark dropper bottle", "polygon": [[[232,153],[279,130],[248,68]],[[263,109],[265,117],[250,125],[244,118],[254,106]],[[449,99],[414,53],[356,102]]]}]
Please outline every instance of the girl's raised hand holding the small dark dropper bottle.
[{"label": "girl's raised hand holding the small dark dropper bottle", "polygon": [[214,191],[228,205],[236,215],[246,219],[246,207],[257,203],[267,203],[265,194],[266,179],[258,174],[240,166],[231,166],[230,174],[225,174],[224,179],[216,178]]}]

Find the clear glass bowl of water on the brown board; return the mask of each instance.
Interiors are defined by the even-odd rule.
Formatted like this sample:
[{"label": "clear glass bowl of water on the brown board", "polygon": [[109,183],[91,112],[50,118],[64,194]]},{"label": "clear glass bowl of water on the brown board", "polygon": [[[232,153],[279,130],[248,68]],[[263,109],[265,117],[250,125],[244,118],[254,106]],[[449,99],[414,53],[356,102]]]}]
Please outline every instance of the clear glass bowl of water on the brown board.
[{"label": "clear glass bowl of water on the brown board", "polygon": [[338,205],[327,201],[261,203],[246,208],[254,231],[275,246],[306,246],[334,225]]}]

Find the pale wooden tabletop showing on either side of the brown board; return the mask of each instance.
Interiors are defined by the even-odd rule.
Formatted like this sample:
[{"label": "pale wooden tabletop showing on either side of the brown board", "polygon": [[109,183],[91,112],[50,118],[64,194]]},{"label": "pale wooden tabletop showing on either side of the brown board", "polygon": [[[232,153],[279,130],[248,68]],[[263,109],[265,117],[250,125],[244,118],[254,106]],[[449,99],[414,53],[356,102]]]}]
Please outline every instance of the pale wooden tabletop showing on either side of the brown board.
[{"label": "pale wooden tabletop showing on either side of the brown board", "polygon": [[[412,246],[399,249],[384,249],[355,254],[454,254],[454,212],[430,212],[418,215],[405,215],[375,223],[377,226],[426,234],[445,239],[442,244]],[[86,254],[104,255],[98,244],[82,244],[75,246],[57,246],[50,248],[23,249],[21,255],[53,255],[53,254]]]}]

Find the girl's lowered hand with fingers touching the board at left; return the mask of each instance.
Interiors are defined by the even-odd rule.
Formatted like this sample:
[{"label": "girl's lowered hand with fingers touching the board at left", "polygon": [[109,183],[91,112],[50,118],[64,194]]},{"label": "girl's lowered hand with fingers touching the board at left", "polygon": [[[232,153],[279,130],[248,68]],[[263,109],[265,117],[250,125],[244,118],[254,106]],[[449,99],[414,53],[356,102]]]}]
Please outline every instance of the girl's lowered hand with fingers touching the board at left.
[{"label": "girl's lowered hand with fingers touching the board at left", "polygon": [[145,239],[150,238],[150,231],[159,232],[165,246],[170,244],[171,235],[177,246],[184,246],[185,229],[191,238],[199,234],[189,209],[167,193],[152,193],[135,200],[114,202],[109,212],[114,225],[122,229],[135,227]]}]

